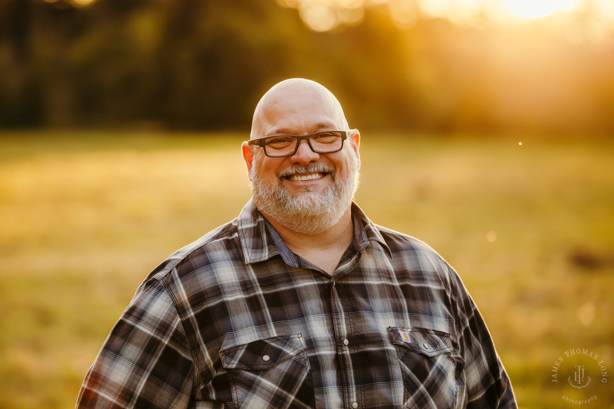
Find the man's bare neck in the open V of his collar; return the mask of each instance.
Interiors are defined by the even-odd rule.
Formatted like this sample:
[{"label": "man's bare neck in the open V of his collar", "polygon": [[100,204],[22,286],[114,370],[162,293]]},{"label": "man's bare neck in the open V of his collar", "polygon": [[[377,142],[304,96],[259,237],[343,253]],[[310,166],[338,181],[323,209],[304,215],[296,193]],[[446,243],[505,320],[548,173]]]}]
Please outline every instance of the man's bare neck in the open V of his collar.
[{"label": "man's bare neck in the open V of his collar", "polygon": [[290,250],[330,275],[335,272],[341,256],[354,237],[351,207],[348,207],[335,225],[317,234],[295,232],[266,213],[262,215],[271,223]]}]

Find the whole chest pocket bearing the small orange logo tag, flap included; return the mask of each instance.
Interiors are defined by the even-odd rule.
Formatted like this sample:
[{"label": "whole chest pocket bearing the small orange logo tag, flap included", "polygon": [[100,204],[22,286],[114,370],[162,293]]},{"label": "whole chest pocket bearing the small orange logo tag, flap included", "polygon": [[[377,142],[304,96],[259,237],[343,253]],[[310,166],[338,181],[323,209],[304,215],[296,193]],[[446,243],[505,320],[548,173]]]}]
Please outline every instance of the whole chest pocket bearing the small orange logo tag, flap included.
[{"label": "whole chest pocket bearing the small orange logo tag, flap included", "polygon": [[389,327],[403,376],[403,408],[456,407],[456,361],[449,334],[426,328]]}]

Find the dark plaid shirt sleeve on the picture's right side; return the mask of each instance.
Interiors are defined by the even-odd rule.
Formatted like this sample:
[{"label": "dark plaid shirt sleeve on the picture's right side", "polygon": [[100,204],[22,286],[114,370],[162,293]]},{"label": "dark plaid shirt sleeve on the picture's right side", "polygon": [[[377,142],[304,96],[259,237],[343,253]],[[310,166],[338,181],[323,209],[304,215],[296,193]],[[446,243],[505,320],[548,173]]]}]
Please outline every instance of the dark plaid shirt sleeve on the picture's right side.
[{"label": "dark plaid shirt sleeve on the picture's right side", "polygon": [[461,278],[456,280],[456,331],[459,350],[465,361],[467,409],[517,408],[510,379],[495,350],[486,323]]}]

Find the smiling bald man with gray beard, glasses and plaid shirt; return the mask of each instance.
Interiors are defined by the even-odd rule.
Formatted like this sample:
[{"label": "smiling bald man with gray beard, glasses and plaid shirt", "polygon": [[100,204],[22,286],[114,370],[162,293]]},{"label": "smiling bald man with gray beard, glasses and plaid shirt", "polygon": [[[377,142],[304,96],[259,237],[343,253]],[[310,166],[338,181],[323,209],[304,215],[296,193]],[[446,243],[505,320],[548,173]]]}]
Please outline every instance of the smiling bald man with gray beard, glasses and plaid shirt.
[{"label": "smiling bald man with gray beard, glasses and plaid shirt", "polygon": [[147,277],[77,407],[515,408],[456,272],[352,202],[359,146],[324,86],[273,86],[253,199]]}]

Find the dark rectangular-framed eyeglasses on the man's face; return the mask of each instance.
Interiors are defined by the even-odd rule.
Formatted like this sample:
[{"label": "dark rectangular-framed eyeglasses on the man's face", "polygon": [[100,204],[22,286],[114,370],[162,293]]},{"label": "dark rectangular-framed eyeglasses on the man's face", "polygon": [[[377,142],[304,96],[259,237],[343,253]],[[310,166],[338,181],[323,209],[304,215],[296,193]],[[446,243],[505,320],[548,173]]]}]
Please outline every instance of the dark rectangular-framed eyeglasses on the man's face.
[{"label": "dark rectangular-framed eyeglasses on the man's face", "polygon": [[343,141],[354,131],[320,131],[308,135],[275,135],[252,139],[248,143],[264,148],[265,155],[271,158],[292,156],[298,150],[298,144],[306,139],[309,148],[316,153],[333,153],[343,148]]}]

